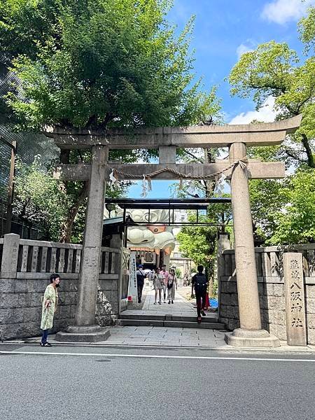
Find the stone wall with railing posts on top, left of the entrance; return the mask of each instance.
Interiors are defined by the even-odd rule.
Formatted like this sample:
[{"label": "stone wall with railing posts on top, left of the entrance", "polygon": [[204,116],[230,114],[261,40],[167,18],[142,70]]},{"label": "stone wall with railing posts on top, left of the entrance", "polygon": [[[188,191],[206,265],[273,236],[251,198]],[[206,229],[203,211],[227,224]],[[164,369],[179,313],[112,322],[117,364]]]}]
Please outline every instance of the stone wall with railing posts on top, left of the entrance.
[{"label": "stone wall with railing posts on top, left of the entrance", "polygon": [[[73,325],[76,314],[81,245],[0,239],[0,339],[41,334],[41,297],[52,272],[58,272],[59,305],[52,332]],[[118,316],[117,248],[102,248],[96,319],[111,325]]]}]

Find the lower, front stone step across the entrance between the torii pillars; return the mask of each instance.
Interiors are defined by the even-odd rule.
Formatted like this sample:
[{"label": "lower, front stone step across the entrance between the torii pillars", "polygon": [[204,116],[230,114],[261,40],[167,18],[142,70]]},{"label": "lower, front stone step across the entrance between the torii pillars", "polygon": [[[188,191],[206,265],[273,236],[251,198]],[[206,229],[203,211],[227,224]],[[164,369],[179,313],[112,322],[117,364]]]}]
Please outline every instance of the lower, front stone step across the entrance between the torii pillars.
[{"label": "lower, front stone step across the entrance between the torii pillars", "polygon": [[167,321],[157,319],[135,319],[135,318],[120,318],[120,325],[132,325],[135,327],[169,327],[169,328],[207,328],[209,330],[225,330],[225,325],[219,322],[204,322],[197,323],[195,321]]}]

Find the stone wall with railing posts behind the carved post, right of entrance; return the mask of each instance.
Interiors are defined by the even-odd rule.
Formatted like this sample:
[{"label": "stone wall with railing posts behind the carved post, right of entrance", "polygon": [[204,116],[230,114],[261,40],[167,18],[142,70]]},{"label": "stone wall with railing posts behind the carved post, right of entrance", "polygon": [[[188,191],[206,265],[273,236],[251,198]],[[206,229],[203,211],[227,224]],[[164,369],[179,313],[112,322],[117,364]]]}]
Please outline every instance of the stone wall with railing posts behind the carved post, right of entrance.
[{"label": "stone wall with railing posts behind the carved post, right of entrance", "polygon": [[[281,250],[276,246],[255,248],[262,328],[279,339],[286,340],[286,302],[282,266],[283,252],[286,251],[302,253],[307,342],[315,344],[315,244],[295,246],[290,250]],[[219,273],[219,317],[229,330],[234,330],[239,327],[234,250],[223,251],[222,258],[224,264],[221,264]]]}]

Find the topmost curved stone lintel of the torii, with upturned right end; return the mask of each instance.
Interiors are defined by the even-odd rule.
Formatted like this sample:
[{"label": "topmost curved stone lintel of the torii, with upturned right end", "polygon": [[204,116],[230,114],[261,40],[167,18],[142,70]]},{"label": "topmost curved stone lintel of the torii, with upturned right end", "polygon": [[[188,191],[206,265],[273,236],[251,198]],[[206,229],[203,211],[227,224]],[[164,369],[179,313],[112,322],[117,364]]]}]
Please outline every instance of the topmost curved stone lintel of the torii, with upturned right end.
[{"label": "topmost curved stone lintel of the torii, with upturned right end", "polygon": [[302,116],[274,123],[245,125],[195,125],[190,127],[112,129],[104,132],[89,130],[63,130],[45,127],[45,135],[55,139],[59,148],[91,148],[97,144],[111,149],[225,147],[233,143],[246,146],[274,146],[281,144],[286,134],[295,132]]}]

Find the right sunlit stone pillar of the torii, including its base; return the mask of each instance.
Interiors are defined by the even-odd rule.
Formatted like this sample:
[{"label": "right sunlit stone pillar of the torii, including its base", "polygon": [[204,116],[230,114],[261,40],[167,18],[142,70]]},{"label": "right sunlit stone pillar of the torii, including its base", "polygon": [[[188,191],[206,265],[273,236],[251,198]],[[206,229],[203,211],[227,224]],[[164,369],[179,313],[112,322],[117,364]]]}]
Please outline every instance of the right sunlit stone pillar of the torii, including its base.
[{"label": "right sunlit stone pillar of the torii, including its base", "polygon": [[[231,144],[231,162],[244,157],[246,157],[246,145]],[[280,346],[277,337],[261,329],[248,176],[247,169],[243,169],[241,165],[237,165],[232,172],[231,197],[241,328],[235,329],[232,334],[225,334],[225,341],[232,346]]]}]

